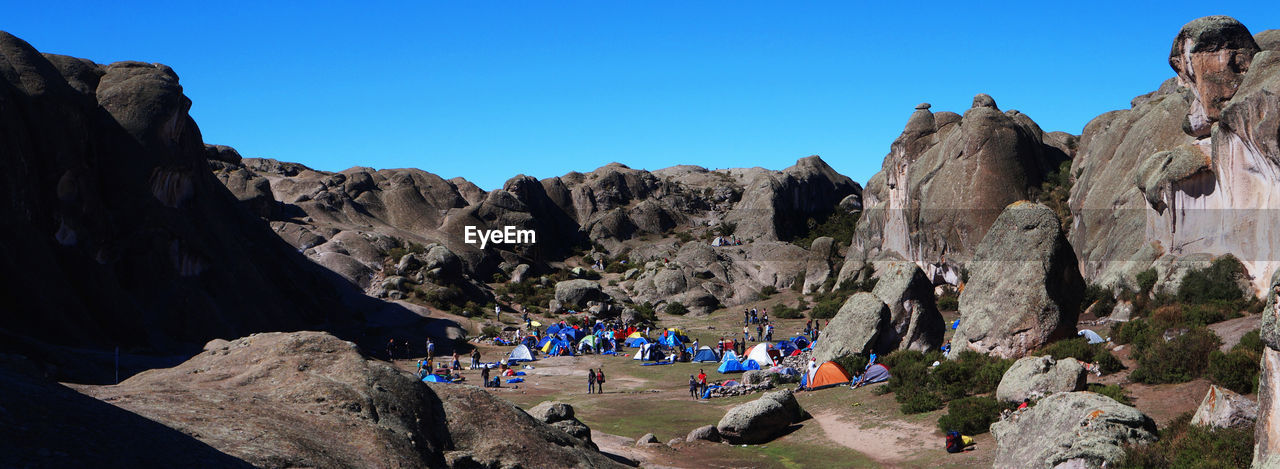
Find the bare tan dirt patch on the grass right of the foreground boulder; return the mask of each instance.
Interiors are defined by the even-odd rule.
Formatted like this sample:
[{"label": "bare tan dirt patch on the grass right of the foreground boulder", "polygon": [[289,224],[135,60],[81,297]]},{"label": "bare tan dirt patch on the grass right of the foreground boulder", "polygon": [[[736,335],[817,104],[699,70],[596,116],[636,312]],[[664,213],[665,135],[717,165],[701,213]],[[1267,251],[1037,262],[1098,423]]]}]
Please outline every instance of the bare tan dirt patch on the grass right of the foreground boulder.
[{"label": "bare tan dirt patch on the grass right of the foreground boulder", "polygon": [[820,413],[813,419],[831,441],[890,466],[906,461],[922,447],[936,446],[938,440],[933,436],[933,428],[901,420],[882,420],[876,427],[861,427],[835,413]]}]

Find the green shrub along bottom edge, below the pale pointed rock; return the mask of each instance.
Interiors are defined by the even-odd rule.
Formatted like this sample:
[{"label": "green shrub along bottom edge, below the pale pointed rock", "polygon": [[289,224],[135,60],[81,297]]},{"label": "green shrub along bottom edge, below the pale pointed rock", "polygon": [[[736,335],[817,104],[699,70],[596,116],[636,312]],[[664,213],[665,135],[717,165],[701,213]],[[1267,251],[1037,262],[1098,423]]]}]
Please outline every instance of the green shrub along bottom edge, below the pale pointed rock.
[{"label": "green shrub along bottom edge, below the pale pointed rock", "polygon": [[1160,441],[1125,447],[1116,468],[1248,468],[1253,460],[1253,428],[1192,425],[1183,414],[1160,431]]}]

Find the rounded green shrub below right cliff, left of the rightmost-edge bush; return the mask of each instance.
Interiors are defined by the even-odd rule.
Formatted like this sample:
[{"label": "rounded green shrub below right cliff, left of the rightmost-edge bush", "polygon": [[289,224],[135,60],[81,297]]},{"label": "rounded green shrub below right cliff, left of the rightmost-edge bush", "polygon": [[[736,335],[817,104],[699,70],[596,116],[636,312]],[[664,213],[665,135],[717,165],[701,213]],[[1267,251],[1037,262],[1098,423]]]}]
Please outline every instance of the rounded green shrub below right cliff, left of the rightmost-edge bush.
[{"label": "rounded green shrub below right cliff, left of the rightmost-edge bush", "polygon": [[1130,378],[1139,383],[1184,383],[1204,372],[1208,355],[1222,343],[1213,332],[1206,328],[1193,328],[1171,341],[1165,341],[1161,332],[1151,331],[1149,345],[1134,349],[1138,355],[1138,368]]}]

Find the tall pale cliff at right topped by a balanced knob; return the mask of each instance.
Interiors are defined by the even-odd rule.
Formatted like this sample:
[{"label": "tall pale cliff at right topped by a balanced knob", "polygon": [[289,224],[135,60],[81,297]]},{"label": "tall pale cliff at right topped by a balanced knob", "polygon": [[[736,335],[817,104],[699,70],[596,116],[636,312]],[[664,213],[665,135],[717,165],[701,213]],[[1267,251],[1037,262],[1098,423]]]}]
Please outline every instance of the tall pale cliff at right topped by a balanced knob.
[{"label": "tall pale cliff at right topped by a balanced knob", "polygon": [[1233,254],[1261,292],[1280,259],[1270,236],[1280,223],[1280,50],[1235,19],[1206,17],[1183,27],[1169,62],[1175,79],[1080,138],[1070,237],[1082,270],[1133,286],[1153,261],[1165,278],[1179,259]]}]

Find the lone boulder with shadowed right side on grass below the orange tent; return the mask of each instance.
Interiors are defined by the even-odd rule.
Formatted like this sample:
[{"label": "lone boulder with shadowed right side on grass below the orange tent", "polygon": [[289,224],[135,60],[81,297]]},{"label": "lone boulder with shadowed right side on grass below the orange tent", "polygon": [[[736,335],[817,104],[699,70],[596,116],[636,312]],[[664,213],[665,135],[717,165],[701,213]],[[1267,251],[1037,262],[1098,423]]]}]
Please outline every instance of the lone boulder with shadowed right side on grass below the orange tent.
[{"label": "lone boulder with shadowed right side on grass below the orange tent", "polygon": [[804,410],[791,391],[774,391],[730,409],[716,431],[731,443],[763,443],[803,416]]}]

